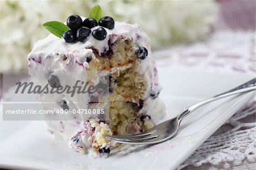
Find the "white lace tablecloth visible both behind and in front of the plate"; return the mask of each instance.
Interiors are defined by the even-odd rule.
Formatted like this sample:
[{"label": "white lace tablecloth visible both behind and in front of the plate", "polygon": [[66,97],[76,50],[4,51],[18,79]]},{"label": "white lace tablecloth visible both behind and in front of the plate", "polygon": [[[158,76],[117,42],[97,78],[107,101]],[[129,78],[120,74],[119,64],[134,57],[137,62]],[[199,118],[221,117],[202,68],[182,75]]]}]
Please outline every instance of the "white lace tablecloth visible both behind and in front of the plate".
[{"label": "white lace tablecloth visible both behind and in front of the plate", "polygon": [[[205,42],[155,52],[160,68],[255,76],[255,32],[220,31]],[[256,169],[256,98],[238,111],[178,169]]]}]

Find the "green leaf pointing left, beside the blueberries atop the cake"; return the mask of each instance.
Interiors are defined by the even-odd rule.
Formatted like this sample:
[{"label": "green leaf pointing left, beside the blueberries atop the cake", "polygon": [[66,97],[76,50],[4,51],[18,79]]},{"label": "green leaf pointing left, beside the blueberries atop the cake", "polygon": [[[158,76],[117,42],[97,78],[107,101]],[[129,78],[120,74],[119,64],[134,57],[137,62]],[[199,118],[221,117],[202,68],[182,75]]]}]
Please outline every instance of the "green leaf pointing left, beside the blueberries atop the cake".
[{"label": "green leaf pointing left, beside the blueberries atop the cake", "polygon": [[70,30],[68,26],[59,21],[50,21],[43,24],[44,28],[46,28],[49,32],[57,37],[61,38],[63,32]]}]

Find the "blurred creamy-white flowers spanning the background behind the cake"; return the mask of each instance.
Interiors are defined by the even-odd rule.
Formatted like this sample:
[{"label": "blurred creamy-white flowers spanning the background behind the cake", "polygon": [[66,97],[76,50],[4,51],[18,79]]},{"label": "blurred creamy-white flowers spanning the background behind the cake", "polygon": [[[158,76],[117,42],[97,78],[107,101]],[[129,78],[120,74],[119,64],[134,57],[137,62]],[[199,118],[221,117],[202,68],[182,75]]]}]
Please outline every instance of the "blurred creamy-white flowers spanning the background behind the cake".
[{"label": "blurred creamy-white flowers spanning the background behind the cake", "polygon": [[214,1],[0,1],[0,72],[27,69],[33,44],[49,34],[44,22],[86,16],[95,4],[115,20],[138,23],[153,49],[209,34],[217,9]]}]

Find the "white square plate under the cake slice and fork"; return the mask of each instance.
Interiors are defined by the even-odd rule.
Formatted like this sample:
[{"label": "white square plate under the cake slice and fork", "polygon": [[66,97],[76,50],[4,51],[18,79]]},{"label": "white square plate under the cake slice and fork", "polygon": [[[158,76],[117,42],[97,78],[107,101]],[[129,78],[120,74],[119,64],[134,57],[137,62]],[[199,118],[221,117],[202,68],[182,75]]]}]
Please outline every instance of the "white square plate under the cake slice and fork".
[{"label": "white square plate under the cake slice and fork", "polygon": [[[249,81],[245,74],[159,70],[168,106],[167,118],[184,107]],[[241,109],[254,92],[210,103],[181,123],[179,134],[147,147],[131,146],[104,159],[90,159],[68,148],[67,141],[52,139],[43,121],[0,121],[0,167],[19,169],[174,169],[214,131]],[[2,103],[0,114],[2,117]]]}]

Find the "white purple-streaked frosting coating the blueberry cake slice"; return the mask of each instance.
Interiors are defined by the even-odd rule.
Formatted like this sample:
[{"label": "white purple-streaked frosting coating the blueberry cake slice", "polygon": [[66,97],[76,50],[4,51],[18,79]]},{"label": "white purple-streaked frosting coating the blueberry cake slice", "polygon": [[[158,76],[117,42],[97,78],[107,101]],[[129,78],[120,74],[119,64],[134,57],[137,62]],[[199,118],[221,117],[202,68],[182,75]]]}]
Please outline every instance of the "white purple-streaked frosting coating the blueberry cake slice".
[{"label": "white purple-streaked frosting coating the blueberry cake slice", "polygon": [[[92,28],[92,31],[97,29]],[[115,22],[115,27],[112,30],[105,28],[108,32],[106,39],[97,40],[93,38],[92,34],[86,40],[86,42],[66,43],[64,39],[59,39],[55,35],[49,35],[43,40],[39,40],[35,43],[34,48],[28,55],[28,69],[31,76],[38,80],[40,85],[46,85],[48,83],[48,74],[51,73],[57,76],[62,86],[72,86],[76,80],[86,82],[88,73],[86,68],[89,64],[86,62],[88,57],[96,57],[93,55],[91,48],[97,49],[98,53],[104,53],[108,51],[109,41],[114,43],[117,38],[123,40],[132,40],[137,47],[145,47],[148,50],[148,56],[144,60],[137,62],[137,72],[141,74],[144,79],[144,83],[147,85],[146,92],[143,99],[144,106],[141,110],[144,114],[151,115],[153,121],[158,121],[161,118],[161,114],[165,114],[164,106],[159,98],[153,99],[150,94],[152,92],[160,92],[160,86],[158,83],[158,75],[155,67],[155,61],[151,55],[150,39],[145,32],[141,30],[138,24],[127,24],[124,22]],[[137,47],[133,47],[137,49]],[[135,52],[135,49],[131,49],[131,52]],[[66,59],[66,60],[64,60]],[[132,67],[128,64],[119,68],[112,68],[110,73],[121,71],[122,69]],[[96,78],[92,80],[94,84],[97,84],[99,80]],[[69,110],[72,109],[88,109],[89,95],[75,94],[71,97],[71,94],[41,94],[39,96],[42,102],[52,102],[53,104],[44,104],[46,109],[61,109],[60,101],[65,99],[68,103]],[[63,115],[55,115],[53,120],[60,120]],[[75,132],[81,130],[84,125],[84,121],[88,121],[91,117],[90,114],[82,114],[80,117],[74,117],[72,114],[65,115],[64,121],[47,121],[48,129],[59,136],[60,138],[70,139]],[[86,139],[87,140],[87,139]]]}]

